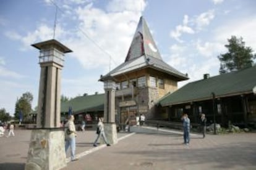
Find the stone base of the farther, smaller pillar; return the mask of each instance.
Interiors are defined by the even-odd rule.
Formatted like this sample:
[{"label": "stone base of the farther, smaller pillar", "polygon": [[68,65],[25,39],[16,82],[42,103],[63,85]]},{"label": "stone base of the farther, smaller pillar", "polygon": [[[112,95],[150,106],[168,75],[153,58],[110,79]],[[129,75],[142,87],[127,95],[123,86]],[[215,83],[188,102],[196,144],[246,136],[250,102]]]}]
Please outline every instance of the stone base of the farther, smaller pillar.
[{"label": "stone base of the farther, smaller pillar", "polygon": [[[108,139],[109,144],[117,144],[117,131],[115,123],[104,123],[104,130],[106,138]],[[105,144],[103,139],[100,139],[100,144]]]}]

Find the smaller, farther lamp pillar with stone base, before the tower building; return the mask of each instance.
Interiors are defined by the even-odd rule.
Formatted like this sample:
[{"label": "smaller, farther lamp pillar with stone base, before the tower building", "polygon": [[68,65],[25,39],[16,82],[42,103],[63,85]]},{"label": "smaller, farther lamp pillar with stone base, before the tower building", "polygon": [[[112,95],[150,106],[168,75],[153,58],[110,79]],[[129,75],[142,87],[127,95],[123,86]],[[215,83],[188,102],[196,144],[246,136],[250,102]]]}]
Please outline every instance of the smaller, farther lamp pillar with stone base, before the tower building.
[{"label": "smaller, farther lamp pillar with stone base, before the tower building", "polygon": [[104,105],[104,120],[105,120],[105,132],[110,144],[117,143],[117,131],[114,118],[114,98],[116,83],[112,79],[104,81],[105,89],[105,105]]}]

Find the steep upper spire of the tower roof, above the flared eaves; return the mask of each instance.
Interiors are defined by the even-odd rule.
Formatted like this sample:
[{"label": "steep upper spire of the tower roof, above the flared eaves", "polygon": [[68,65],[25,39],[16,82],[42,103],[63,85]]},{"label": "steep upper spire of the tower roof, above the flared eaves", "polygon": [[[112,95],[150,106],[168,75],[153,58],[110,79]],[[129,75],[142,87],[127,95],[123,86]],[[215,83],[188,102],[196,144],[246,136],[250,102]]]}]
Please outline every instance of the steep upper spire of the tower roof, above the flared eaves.
[{"label": "steep upper spire of the tower roof, above the flared eaves", "polygon": [[143,17],[140,17],[125,62],[141,57],[142,55],[148,55],[160,60],[162,59],[146,21]]}]

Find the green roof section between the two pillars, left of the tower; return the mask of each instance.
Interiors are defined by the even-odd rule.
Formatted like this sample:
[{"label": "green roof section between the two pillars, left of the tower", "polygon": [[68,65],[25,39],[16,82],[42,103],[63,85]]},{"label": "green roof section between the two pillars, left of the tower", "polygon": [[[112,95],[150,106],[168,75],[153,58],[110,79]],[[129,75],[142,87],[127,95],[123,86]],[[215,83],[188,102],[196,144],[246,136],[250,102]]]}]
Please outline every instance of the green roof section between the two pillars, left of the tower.
[{"label": "green roof section between the two pillars, left of the tower", "polygon": [[105,94],[84,95],[75,97],[67,102],[61,103],[61,112],[68,112],[69,107],[72,113],[82,113],[86,111],[104,111]]}]

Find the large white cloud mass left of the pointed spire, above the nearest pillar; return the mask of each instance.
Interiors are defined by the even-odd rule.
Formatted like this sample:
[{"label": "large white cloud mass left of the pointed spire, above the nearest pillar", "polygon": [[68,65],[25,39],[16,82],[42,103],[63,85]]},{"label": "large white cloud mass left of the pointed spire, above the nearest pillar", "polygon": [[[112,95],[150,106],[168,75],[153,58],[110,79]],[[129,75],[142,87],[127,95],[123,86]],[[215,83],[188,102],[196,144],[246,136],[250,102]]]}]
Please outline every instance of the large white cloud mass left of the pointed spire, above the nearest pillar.
[{"label": "large white cloud mass left of the pointed spire, above the nearest pillar", "polygon": [[[66,1],[65,1],[66,2]],[[72,57],[86,69],[100,67],[108,71],[109,55],[111,55],[111,69],[124,62],[129,49],[130,41],[140,17],[137,9],[145,8],[144,1],[110,1],[108,9],[111,12],[95,8],[93,3],[86,6],[73,7],[73,18],[79,23],[64,28],[64,23],[59,23],[56,28],[56,39],[64,39],[64,44],[72,49]],[[69,8],[68,4],[62,4]],[[119,11],[117,9],[122,9]],[[135,9],[135,10],[133,10]],[[60,13],[59,15],[66,15]],[[69,15],[70,16],[70,15]],[[63,16],[62,16],[63,17]],[[38,25],[35,31],[21,36],[17,33],[7,33],[9,38],[23,43],[22,50],[27,50],[30,44],[45,39],[53,38],[53,28],[45,23]],[[68,36],[67,36],[68,35]],[[118,44],[118,45],[117,45]],[[122,57],[121,57],[122,56]]]}]

